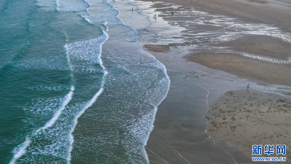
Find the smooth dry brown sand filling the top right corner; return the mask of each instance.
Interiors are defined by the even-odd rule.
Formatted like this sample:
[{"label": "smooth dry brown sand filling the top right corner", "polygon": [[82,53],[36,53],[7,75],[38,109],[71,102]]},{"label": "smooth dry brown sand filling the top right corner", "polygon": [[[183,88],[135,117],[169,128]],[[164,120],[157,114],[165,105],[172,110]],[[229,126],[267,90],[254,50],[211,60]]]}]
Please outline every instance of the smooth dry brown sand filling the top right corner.
[{"label": "smooth dry brown sand filling the top right corner", "polygon": [[[147,0],[145,0],[147,1]],[[159,0],[150,0],[157,2]],[[162,0],[183,6],[196,6],[203,11],[227,15],[252,23],[273,25],[291,31],[291,3],[275,0]],[[288,2],[288,1],[287,1]]]}]

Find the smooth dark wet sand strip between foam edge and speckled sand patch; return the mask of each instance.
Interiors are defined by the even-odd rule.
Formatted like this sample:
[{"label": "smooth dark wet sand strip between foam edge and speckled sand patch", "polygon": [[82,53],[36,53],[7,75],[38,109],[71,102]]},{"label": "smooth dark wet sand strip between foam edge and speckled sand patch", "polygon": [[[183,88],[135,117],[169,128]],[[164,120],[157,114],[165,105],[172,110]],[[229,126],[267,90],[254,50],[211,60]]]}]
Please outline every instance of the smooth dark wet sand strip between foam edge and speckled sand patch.
[{"label": "smooth dark wet sand strip between foam edge and speckled sand patch", "polygon": [[[221,83],[230,83],[193,71],[190,68],[197,65],[193,62],[177,61],[175,57],[169,60],[172,54],[151,53],[168,68],[171,85],[158,106],[154,129],[145,147],[150,163],[251,163],[250,156],[240,148],[209,138],[206,132],[207,119],[203,115],[208,103],[227,91]],[[233,84],[229,87],[235,88]]]}]

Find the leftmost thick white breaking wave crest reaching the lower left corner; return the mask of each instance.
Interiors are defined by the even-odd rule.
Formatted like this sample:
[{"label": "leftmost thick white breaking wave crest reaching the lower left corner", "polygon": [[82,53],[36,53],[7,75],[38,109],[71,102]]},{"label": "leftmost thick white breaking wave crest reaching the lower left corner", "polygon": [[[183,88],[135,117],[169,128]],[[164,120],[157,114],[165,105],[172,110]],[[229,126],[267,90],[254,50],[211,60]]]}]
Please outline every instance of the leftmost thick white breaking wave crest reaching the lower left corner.
[{"label": "leftmost thick white breaking wave crest reaching the lower left corner", "polygon": [[70,92],[64,96],[65,100],[62,103],[61,107],[57,112],[55,112],[53,118],[51,118],[48,122],[46,122],[45,126],[37,129],[35,132],[33,132],[31,135],[26,136],[25,142],[18,145],[13,152],[16,152],[12,159],[10,160],[9,164],[15,164],[15,162],[21,158],[26,153],[26,148],[30,145],[32,138],[37,136],[41,131],[48,129],[49,127],[53,126],[58,117],[61,115],[61,112],[65,109],[66,105],[71,101],[72,96],[74,94],[75,87],[71,85]]}]

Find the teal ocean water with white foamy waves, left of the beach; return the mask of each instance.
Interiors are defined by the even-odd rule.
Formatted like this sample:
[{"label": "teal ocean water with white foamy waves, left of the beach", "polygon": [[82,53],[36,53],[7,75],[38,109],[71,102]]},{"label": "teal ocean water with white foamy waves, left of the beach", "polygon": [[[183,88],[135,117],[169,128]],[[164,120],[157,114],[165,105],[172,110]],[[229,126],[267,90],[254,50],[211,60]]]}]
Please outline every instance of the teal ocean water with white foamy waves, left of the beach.
[{"label": "teal ocean water with white foamy waves, left of the beach", "polygon": [[1,1],[0,163],[148,162],[170,81],[110,3]]}]

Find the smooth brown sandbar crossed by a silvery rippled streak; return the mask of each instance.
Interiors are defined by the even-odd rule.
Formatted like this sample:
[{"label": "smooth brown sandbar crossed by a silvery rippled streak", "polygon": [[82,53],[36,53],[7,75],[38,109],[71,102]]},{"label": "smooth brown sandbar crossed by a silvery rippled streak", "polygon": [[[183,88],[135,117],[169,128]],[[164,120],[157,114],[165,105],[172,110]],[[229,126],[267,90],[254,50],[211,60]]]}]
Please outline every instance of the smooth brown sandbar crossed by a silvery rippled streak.
[{"label": "smooth brown sandbar crossed by a silvery rippled streak", "polygon": [[[212,44],[210,44],[212,45]],[[248,36],[233,41],[222,42],[215,46],[229,46],[240,52],[266,55],[277,59],[290,57],[291,45],[277,38],[264,35]],[[277,64],[254,60],[231,53],[198,53],[185,57],[212,69],[229,72],[250,81],[291,86],[290,64]]]}]

